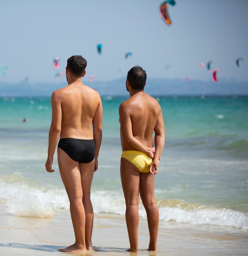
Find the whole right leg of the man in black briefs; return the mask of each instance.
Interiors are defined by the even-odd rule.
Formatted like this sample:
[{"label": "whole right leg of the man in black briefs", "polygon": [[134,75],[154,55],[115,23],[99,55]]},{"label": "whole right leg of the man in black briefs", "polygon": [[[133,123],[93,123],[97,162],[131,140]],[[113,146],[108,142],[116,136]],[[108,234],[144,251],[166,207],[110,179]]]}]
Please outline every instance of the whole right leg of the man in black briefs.
[{"label": "whole right leg of the man in black briefs", "polygon": [[91,204],[91,182],[93,179],[95,160],[90,163],[80,163],[81,184],[83,191],[83,204],[85,211],[85,245],[87,250],[92,250],[93,207]]}]

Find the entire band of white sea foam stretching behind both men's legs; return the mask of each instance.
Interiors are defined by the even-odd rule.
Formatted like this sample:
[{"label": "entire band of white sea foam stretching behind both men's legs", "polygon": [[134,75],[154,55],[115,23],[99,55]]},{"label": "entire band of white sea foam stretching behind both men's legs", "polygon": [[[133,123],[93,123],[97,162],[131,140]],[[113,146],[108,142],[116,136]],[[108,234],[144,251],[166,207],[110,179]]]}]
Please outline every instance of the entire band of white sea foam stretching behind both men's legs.
[{"label": "entire band of white sea foam stretching behind both men's legs", "polygon": [[[9,213],[15,216],[50,218],[55,211],[69,210],[69,200],[64,189],[35,187],[15,179],[12,177],[12,182],[0,181],[0,204],[5,204]],[[91,200],[95,213],[125,214],[125,200],[121,190],[92,191]],[[248,216],[244,213],[206,206],[189,210],[189,207],[182,209],[175,206],[176,202],[174,205],[171,203],[159,205],[160,220],[248,229]],[[139,213],[141,217],[146,217],[142,203]]]}]

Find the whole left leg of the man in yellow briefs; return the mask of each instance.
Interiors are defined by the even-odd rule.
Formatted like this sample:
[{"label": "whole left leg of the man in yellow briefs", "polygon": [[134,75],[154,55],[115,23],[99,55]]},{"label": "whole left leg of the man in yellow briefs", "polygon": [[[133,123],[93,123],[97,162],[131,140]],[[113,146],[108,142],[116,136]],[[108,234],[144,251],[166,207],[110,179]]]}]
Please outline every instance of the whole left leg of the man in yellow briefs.
[{"label": "whole left leg of the man in yellow briefs", "polygon": [[137,253],[140,173],[137,171],[137,167],[124,158],[121,158],[120,173],[126,200],[126,225],[130,242],[129,251]]}]

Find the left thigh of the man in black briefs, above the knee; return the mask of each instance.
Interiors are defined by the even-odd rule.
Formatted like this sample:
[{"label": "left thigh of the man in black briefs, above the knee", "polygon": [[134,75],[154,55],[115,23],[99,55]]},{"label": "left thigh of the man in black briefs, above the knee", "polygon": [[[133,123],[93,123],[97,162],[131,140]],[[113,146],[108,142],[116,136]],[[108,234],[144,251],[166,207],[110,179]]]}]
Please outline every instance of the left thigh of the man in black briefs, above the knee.
[{"label": "left thigh of the man in black briefs, above the knee", "polygon": [[58,165],[60,176],[69,199],[82,196],[82,185],[79,163],[71,159],[64,150],[58,148]]}]

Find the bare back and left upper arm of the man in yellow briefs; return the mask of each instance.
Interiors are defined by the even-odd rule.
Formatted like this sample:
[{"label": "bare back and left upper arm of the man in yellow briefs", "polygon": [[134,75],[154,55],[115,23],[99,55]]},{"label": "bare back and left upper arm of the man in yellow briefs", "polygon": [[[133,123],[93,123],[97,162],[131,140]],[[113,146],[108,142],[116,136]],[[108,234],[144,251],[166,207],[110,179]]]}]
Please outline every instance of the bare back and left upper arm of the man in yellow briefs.
[{"label": "bare back and left upper arm of the man in yellow briefs", "polygon": [[129,136],[147,147],[153,147],[153,131],[160,114],[157,100],[143,91],[124,101],[120,105],[122,150],[135,150],[126,142]]}]

